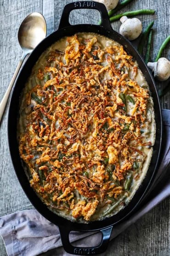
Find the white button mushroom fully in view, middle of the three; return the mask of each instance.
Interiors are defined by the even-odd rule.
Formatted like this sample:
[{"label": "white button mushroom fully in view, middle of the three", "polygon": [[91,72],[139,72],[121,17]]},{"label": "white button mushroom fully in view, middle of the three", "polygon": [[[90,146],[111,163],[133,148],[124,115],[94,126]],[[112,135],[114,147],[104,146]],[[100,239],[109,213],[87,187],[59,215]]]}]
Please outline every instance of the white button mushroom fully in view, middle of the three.
[{"label": "white button mushroom fully in view, middle of the three", "polygon": [[142,22],[138,18],[127,18],[123,16],[121,19],[119,33],[130,41],[135,40],[142,32]]}]

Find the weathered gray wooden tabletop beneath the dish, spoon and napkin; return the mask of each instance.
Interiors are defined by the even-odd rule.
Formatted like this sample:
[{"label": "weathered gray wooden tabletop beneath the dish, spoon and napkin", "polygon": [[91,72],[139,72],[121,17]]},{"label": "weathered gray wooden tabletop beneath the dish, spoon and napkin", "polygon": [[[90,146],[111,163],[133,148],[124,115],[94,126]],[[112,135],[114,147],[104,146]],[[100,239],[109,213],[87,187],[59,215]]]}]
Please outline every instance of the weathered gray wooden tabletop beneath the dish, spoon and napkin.
[{"label": "weathered gray wooden tabletop beneath the dish, spoon and napkin", "polygon": [[[47,34],[57,30],[63,6],[73,0],[0,0],[0,100],[10,83],[22,50],[17,42],[17,30],[23,18],[31,12],[41,12],[47,22]],[[134,0],[123,11],[142,8],[155,9],[155,15],[139,16],[143,27],[155,20],[151,59],[154,60],[166,36],[170,35],[170,0]],[[120,11],[122,12],[122,11]],[[97,11],[77,10],[71,13],[70,23],[97,24]],[[120,22],[113,24],[119,31]],[[170,59],[170,44],[164,51]],[[166,83],[158,83],[158,88]],[[170,92],[161,98],[163,108],[170,109]],[[0,126],[0,216],[33,206],[25,196],[11,164],[7,143],[7,111]],[[12,125],[12,124],[11,124]],[[136,224],[110,242],[107,256],[169,256],[170,255],[170,198],[155,207]],[[0,256],[6,256],[0,238]]]}]

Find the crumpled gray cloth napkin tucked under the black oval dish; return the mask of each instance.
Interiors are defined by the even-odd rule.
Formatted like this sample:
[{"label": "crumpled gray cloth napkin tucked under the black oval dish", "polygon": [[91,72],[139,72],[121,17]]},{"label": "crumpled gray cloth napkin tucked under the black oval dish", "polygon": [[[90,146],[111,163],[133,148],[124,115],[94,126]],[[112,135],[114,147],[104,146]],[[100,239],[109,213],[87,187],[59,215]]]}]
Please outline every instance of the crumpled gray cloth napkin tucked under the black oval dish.
[{"label": "crumpled gray cloth napkin tucked under the black oval dish", "polygon": [[[136,212],[129,219],[113,227],[111,240],[135,223],[159,202],[170,196],[170,110],[163,109],[164,149],[159,169],[150,188],[147,200],[143,200]],[[155,189],[156,187],[156,189]],[[63,250],[59,229],[46,220],[36,210],[25,210],[0,218],[0,234],[9,256],[68,256]],[[72,232],[70,242],[85,247],[95,246],[101,241],[100,232]],[[101,254],[101,256],[106,253]]]}]

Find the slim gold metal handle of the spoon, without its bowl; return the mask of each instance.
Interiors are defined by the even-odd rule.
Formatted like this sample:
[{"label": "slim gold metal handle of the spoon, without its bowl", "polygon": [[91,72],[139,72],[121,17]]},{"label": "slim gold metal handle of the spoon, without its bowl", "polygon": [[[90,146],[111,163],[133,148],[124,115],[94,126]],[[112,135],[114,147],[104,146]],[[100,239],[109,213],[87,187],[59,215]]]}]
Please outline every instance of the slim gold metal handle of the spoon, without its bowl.
[{"label": "slim gold metal handle of the spoon, without its bowl", "polygon": [[6,109],[6,103],[8,101],[8,98],[9,98],[12,86],[13,86],[15,80],[16,80],[17,74],[18,74],[18,72],[20,70],[20,67],[21,67],[21,65],[23,63],[23,60],[25,59],[26,55],[27,54],[23,53],[23,55],[21,57],[21,60],[19,61],[18,65],[17,65],[17,68],[16,68],[16,71],[15,71],[15,73],[14,73],[12,79],[11,79],[11,82],[10,82],[10,84],[8,86],[8,89],[6,90],[6,93],[5,93],[2,101],[0,102],[0,122],[1,122],[1,119],[3,117],[3,113],[4,113],[5,109]]}]

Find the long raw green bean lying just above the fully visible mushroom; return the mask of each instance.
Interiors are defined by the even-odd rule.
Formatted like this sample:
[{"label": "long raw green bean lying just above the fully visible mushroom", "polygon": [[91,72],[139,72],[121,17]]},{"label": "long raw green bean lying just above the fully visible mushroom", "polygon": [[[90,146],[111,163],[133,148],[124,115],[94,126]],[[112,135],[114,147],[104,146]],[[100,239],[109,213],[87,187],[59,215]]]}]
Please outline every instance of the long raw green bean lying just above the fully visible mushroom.
[{"label": "long raw green bean lying just above the fully visible mushroom", "polygon": [[131,17],[131,16],[140,15],[140,14],[154,14],[154,13],[155,13],[155,10],[149,10],[149,9],[141,9],[141,10],[136,10],[131,12],[124,12],[111,17],[110,22],[119,20],[123,16]]}]

